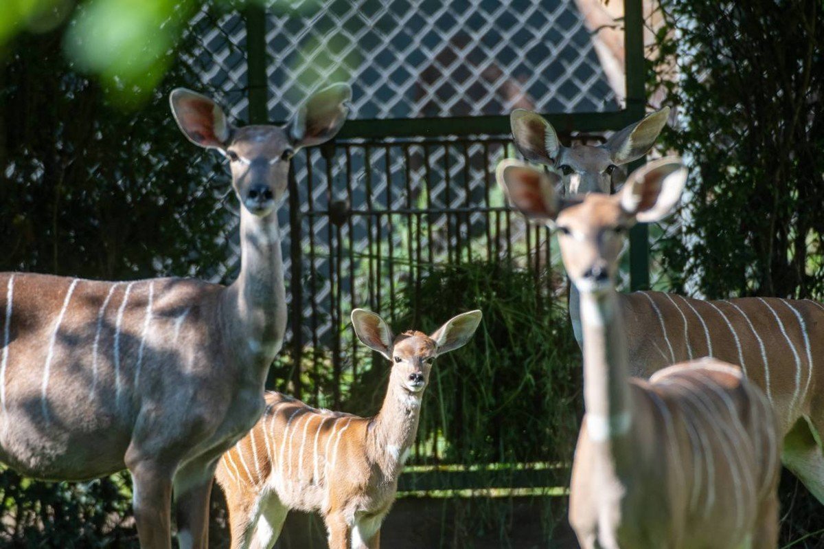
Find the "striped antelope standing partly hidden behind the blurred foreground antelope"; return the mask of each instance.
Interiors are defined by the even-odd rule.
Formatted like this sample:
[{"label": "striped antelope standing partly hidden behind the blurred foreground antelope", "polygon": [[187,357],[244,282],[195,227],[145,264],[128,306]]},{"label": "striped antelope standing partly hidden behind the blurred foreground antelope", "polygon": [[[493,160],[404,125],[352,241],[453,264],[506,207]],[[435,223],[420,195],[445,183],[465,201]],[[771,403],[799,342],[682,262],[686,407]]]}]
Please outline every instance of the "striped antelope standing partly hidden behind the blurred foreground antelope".
[{"label": "striped antelope standing partly hidden behind the blurred foreground antelope", "polygon": [[[666,112],[666,108],[659,110],[621,130],[602,148],[559,148],[549,122],[527,111],[513,112],[513,136],[517,148],[531,161],[564,171],[561,181],[567,195],[575,193],[575,181],[580,181],[579,193],[606,193],[607,162],[632,160],[646,152]],[[548,146],[541,148],[542,143]],[[608,159],[607,152],[615,155],[620,150],[629,155]],[[778,414],[784,436],[782,462],[824,503],[824,306],[807,299],[704,301],[662,292],[620,293],[617,299],[633,375],[648,377],[670,364],[700,356],[739,364]],[[574,285],[569,292],[569,316],[583,348],[580,294]],[[815,357],[819,357],[817,367]]]}]

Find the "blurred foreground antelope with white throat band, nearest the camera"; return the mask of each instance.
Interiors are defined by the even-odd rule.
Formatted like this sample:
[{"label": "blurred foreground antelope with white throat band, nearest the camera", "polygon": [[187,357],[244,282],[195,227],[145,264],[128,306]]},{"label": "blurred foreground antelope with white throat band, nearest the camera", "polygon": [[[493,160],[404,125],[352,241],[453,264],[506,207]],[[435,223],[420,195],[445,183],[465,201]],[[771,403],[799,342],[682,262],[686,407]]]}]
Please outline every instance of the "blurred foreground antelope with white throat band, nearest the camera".
[{"label": "blurred foreground antelope with white throat band, nearest the camera", "polygon": [[615,289],[627,229],[667,215],[686,181],[677,159],[634,171],[618,195],[564,198],[559,177],[513,160],[509,198],[559,232],[581,293],[584,420],[569,522],[582,547],[776,547],[780,436],[775,412],[740,368],[705,358],[647,382],[630,378]]}]

